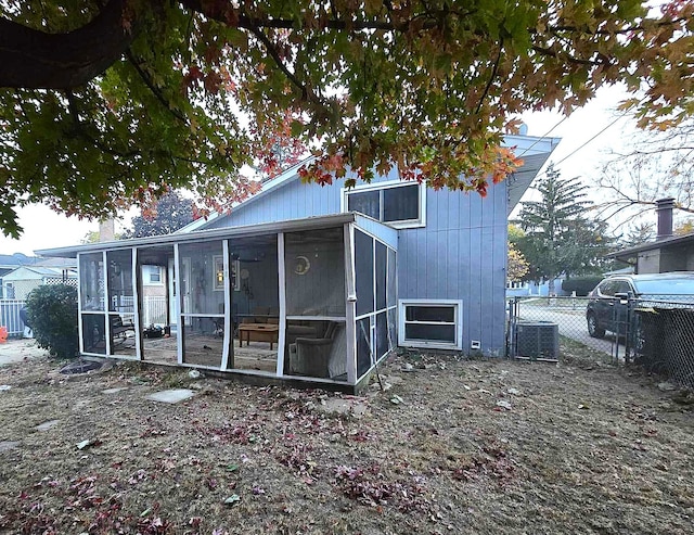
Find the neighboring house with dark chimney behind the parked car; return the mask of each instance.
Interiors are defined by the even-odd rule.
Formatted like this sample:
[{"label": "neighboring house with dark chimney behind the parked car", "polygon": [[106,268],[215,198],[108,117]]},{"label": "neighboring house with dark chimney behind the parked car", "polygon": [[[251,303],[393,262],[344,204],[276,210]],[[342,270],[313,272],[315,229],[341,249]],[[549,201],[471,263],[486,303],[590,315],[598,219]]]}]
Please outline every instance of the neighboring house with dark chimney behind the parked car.
[{"label": "neighboring house with dark chimney behind the parked car", "polygon": [[694,271],[694,233],[672,235],[673,199],[656,201],[658,225],[654,242],[624,249],[607,255],[629,264],[634,273]]}]

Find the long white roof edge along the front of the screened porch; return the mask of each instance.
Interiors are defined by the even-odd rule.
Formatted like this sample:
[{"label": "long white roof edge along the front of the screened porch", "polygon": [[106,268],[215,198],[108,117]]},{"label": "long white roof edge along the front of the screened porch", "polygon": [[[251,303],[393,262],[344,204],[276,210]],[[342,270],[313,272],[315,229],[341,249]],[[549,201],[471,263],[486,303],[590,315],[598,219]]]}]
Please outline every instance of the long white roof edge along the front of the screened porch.
[{"label": "long white roof edge along the front of the screened porch", "polygon": [[[209,241],[231,237],[247,237],[267,234],[273,232],[294,232],[314,228],[337,227],[348,222],[355,222],[358,215],[352,212],[334,214],[329,216],[307,217],[304,219],[290,219],[284,221],[265,222],[260,225],[244,225],[240,227],[223,227],[220,229],[195,230],[180,234],[152,235],[146,238],[132,238],[130,240],[116,240],[111,242],[86,243],[67,247],[43,249],[37,254],[48,257],[75,258],[77,253],[90,253],[101,251],[115,251],[147,245],[163,245],[174,243],[187,243],[193,241]],[[382,225],[382,224],[380,224]]]}]

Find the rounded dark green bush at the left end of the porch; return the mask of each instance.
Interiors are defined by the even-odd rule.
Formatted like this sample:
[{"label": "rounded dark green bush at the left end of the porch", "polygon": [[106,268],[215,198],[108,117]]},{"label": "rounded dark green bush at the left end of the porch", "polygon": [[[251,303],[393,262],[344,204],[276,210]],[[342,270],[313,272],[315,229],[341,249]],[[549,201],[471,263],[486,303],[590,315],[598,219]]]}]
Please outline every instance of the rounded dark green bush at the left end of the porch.
[{"label": "rounded dark green bush at the left end of the porch", "polygon": [[38,286],[26,298],[28,326],[39,347],[57,358],[79,351],[77,290],[67,284]]}]

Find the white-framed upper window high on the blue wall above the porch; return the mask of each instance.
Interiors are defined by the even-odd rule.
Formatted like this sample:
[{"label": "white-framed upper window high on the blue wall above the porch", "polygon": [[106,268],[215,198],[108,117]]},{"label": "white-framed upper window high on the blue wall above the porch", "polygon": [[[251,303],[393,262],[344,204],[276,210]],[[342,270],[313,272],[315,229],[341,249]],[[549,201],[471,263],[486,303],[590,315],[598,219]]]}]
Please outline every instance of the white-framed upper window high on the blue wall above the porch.
[{"label": "white-framed upper window high on the blue wall above the porch", "polygon": [[412,182],[382,182],[344,190],[344,211],[360,212],[396,228],[425,225],[425,188]]}]

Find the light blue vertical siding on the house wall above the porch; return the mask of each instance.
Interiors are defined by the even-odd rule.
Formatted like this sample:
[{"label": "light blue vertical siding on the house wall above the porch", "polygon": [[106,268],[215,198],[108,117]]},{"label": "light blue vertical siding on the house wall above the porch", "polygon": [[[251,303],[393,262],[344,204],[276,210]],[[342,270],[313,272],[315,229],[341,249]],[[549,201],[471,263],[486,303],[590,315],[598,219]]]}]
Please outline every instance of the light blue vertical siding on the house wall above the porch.
[{"label": "light blue vertical siding on the house wall above the porch", "polygon": [[[391,173],[373,182],[396,178]],[[288,180],[206,228],[336,214],[342,186],[342,180],[325,187]],[[462,300],[464,351],[479,340],[485,354],[503,355],[506,225],[502,182],[485,199],[428,190],[426,226],[398,231],[399,298]]]}]

